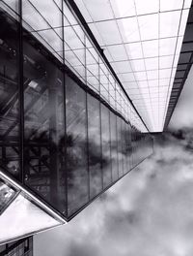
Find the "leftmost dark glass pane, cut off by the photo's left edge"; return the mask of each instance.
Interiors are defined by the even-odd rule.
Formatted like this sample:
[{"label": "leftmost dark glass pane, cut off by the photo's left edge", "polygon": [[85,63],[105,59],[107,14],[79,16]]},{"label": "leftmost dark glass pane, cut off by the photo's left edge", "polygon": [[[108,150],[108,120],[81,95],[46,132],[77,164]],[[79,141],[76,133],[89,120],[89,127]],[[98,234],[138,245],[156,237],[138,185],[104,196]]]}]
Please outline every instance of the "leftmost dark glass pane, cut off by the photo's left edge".
[{"label": "leftmost dark glass pane, cut off by the photo's left edge", "polygon": [[0,166],[16,178],[20,151],[18,34],[17,21],[0,7]]}]

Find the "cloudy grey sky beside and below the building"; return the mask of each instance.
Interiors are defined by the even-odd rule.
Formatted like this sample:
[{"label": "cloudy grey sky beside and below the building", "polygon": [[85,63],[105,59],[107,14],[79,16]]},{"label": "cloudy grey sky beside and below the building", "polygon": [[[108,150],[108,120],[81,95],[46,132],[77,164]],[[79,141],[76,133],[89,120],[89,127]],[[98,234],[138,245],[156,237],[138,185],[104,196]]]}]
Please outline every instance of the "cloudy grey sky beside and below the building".
[{"label": "cloudy grey sky beside and below the building", "polygon": [[[68,225],[35,237],[35,256],[186,256],[193,254],[193,69],[171,132],[152,158]],[[180,129],[180,130],[179,130]]]}]

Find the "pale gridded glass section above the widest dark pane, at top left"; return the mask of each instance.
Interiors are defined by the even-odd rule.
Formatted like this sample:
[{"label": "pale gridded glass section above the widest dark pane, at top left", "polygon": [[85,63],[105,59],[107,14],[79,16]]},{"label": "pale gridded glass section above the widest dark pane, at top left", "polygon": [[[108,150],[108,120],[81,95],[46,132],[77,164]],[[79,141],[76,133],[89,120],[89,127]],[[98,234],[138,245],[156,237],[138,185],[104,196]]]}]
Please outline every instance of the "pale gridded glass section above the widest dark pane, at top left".
[{"label": "pale gridded glass section above the widest dark pane, at top left", "polygon": [[54,1],[22,1],[22,18],[23,25],[42,45],[51,52],[63,51],[62,13]]}]

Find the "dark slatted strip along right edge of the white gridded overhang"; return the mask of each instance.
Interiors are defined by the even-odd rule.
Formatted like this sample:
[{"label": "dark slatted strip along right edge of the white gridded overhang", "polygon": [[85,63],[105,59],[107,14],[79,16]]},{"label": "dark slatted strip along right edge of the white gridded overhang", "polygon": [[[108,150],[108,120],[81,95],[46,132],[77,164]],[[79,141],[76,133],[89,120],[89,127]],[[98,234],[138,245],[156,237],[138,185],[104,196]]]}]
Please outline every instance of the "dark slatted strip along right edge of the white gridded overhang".
[{"label": "dark slatted strip along right edge of the white gridded overhang", "polygon": [[165,112],[167,113],[166,113],[166,119],[164,124],[164,130],[167,130],[172,114],[177,106],[180,92],[183,88],[185,80],[187,79],[190,68],[192,67],[192,63],[193,63],[192,31],[193,31],[193,6],[191,6],[188,20],[187,20],[186,30],[185,30],[185,34],[184,34],[184,38],[183,38],[183,42],[182,42],[182,46],[179,54],[179,63],[177,66],[177,72],[175,75],[171,96],[169,98],[168,109],[165,110]]}]

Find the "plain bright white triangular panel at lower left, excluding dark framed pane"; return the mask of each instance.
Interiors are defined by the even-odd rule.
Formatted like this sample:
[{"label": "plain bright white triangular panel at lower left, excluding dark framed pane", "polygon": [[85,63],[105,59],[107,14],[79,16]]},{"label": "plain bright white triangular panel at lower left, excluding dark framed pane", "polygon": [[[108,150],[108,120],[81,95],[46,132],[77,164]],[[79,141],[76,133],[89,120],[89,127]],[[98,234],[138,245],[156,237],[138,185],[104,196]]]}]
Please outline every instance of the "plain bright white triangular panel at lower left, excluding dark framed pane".
[{"label": "plain bright white triangular panel at lower left, excluding dark framed pane", "polygon": [[61,223],[19,194],[0,217],[0,242],[16,240]]}]

